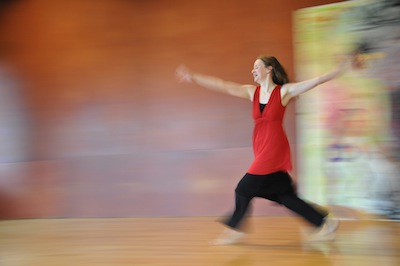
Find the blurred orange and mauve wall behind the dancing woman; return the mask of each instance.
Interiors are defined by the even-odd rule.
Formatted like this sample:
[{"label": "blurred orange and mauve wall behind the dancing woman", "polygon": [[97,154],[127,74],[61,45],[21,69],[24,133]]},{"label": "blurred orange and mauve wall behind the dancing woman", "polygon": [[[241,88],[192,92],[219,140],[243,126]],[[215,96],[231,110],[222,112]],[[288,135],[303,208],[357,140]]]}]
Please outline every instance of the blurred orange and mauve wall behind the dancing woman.
[{"label": "blurred orange and mauve wall behind the dancing woman", "polygon": [[[292,12],[339,1],[9,1],[0,20],[0,217],[221,215],[252,159],[251,104],[176,81],[294,78]],[[295,149],[294,106],[286,128]],[[280,214],[269,203],[256,214]]]}]

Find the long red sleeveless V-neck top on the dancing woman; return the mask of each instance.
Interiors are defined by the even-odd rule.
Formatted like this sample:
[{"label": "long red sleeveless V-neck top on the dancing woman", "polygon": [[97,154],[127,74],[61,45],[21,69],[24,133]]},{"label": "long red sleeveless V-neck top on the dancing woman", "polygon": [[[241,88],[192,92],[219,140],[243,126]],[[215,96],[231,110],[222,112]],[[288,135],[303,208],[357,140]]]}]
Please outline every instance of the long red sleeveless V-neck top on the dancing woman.
[{"label": "long red sleeveless V-neck top on the dancing woman", "polygon": [[272,91],[264,111],[260,111],[260,87],[253,98],[253,150],[254,161],[249,174],[266,175],[292,170],[289,141],[283,129],[285,106],[281,101],[281,86]]}]

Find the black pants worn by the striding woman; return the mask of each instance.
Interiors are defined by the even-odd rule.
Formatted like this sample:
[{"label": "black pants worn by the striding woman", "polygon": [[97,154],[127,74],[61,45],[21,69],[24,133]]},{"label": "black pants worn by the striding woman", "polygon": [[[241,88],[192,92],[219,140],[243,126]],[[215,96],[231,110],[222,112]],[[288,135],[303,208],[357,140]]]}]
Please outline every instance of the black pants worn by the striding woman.
[{"label": "black pants worn by the striding woman", "polygon": [[254,197],[282,204],[315,226],[321,226],[327,216],[327,213],[316,210],[297,197],[288,173],[246,174],[235,189],[235,210],[224,223],[233,229],[239,229]]}]

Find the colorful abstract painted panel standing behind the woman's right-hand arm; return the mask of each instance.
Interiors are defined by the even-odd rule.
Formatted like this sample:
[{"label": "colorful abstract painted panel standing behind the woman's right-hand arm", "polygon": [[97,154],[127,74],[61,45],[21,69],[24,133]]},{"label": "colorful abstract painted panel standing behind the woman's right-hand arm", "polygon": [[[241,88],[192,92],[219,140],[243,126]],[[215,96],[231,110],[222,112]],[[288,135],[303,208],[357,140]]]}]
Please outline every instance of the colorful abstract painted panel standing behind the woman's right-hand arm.
[{"label": "colorful abstract painted panel standing behind the woman's right-hand arm", "polygon": [[296,80],[358,64],[297,101],[299,193],[343,218],[400,219],[400,6],[347,1],[294,14]]}]

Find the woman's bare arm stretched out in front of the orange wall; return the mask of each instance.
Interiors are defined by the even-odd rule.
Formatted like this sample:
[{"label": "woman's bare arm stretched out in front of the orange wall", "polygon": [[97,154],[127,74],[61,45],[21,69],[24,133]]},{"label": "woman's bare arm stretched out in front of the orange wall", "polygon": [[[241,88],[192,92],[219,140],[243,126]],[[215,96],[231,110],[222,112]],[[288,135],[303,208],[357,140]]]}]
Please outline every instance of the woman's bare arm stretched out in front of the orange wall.
[{"label": "woman's bare arm stretched out in front of the orange wall", "polygon": [[200,73],[191,72],[187,67],[180,66],[176,70],[176,75],[181,82],[194,82],[204,88],[227,93],[229,95],[253,100],[256,86],[243,85],[231,81],[225,81],[217,77],[207,76]]}]

